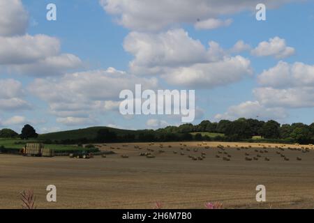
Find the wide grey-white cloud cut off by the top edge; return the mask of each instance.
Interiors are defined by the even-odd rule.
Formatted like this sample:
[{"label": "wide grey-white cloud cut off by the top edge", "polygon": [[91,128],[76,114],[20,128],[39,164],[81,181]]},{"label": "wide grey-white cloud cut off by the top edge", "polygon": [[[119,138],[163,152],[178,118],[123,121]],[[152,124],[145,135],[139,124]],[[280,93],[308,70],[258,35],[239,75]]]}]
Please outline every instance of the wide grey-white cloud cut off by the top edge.
[{"label": "wide grey-white cloud cut off by the top edge", "polygon": [[[266,0],[267,8],[274,8],[291,0]],[[160,31],[178,24],[195,24],[197,20],[217,19],[244,10],[255,11],[255,0],[100,0],[107,13],[114,15],[122,26],[135,31]]]}]

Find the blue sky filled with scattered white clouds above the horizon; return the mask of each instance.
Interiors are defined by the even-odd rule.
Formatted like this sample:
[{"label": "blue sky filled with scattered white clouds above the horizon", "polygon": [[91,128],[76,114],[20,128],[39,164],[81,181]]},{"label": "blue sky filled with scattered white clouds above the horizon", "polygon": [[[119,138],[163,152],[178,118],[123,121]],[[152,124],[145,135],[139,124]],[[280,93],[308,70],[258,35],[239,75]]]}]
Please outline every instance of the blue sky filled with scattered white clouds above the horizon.
[{"label": "blue sky filled with scattered white clouds above the horizon", "polygon": [[194,124],[311,124],[313,40],[313,1],[0,0],[0,128],[182,124],[178,115],[122,115],[119,93],[135,84],[195,90]]}]

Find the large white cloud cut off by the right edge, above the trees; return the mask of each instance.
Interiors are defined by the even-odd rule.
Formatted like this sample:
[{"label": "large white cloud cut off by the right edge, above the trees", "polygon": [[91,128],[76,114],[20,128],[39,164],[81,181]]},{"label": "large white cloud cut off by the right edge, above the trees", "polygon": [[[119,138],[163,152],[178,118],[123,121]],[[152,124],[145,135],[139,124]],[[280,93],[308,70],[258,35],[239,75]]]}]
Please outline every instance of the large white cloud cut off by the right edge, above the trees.
[{"label": "large white cloud cut off by the right edge, above the trees", "polygon": [[258,76],[260,88],[253,92],[269,107],[314,107],[314,66],[278,62]]}]

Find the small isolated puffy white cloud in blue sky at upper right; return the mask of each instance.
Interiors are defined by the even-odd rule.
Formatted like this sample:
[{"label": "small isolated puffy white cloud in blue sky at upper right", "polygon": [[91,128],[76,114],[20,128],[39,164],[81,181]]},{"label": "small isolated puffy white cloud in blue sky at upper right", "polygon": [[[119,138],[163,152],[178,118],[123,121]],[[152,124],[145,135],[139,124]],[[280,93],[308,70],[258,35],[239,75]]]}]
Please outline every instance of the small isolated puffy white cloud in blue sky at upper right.
[{"label": "small isolated puffy white cloud in blue sky at upper right", "polygon": [[292,56],[295,52],[293,47],[287,47],[285,40],[278,36],[270,38],[269,42],[260,43],[252,54],[255,56],[274,56],[276,59],[283,59]]}]

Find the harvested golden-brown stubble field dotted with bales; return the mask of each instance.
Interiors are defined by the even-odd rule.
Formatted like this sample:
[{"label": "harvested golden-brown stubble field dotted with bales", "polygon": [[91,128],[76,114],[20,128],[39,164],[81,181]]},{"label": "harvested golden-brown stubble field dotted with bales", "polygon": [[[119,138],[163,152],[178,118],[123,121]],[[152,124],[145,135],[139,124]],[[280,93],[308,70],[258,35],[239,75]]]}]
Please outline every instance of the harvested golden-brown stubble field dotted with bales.
[{"label": "harvested golden-brown stubble field dotted with bales", "polygon": [[[219,201],[224,208],[314,207],[312,149],[302,153],[289,150],[289,145],[282,151],[274,144],[264,149],[225,143],[223,151],[218,144],[223,143],[163,143],[163,148],[159,143],[100,144],[101,150],[116,154],[89,160],[0,154],[0,208],[21,208],[19,193],[27,189],[34,191],[37,208],[154,208],[157,201],[163,208],[204,208],[207,201]],[[147,148],[154,150],[150,153],[155,158],[140,156]],[[188,157],[201,153],[204,160]],[[223,160],[224,153],[230,161]],[[245,160],[257,154],[259,160]],[[57,186],[56,203],[45,201],[47,185]],[[257,185],[266,186],[267,202],[255,200]]]}]

